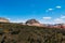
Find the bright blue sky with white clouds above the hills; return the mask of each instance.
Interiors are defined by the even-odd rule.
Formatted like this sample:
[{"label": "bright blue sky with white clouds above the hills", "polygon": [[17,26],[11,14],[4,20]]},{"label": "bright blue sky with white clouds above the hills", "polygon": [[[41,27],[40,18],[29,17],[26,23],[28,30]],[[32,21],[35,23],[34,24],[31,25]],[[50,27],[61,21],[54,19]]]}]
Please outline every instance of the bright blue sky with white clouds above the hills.
[{"label": "bright blue sky with white clouds above the hills", "polygon": [[35,18],[40,23],[65,22],[65,0],[0,0],[0,17],[11,22]]}]

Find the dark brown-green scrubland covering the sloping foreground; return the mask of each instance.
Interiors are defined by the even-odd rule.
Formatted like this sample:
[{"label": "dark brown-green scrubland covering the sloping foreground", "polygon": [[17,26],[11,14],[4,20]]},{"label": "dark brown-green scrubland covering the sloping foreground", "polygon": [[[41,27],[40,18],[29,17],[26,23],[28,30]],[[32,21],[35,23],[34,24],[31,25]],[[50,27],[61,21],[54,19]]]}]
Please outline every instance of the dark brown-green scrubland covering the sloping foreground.
[{"label": "dark brown-green scrubland covering the sloping foreground", "polygon": [[0,43],[64,43],[65,30],[0,23]]}]

